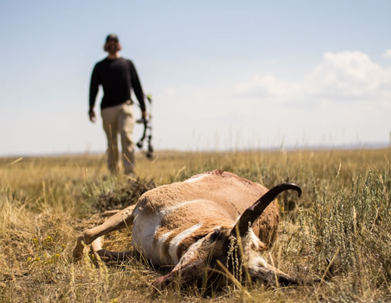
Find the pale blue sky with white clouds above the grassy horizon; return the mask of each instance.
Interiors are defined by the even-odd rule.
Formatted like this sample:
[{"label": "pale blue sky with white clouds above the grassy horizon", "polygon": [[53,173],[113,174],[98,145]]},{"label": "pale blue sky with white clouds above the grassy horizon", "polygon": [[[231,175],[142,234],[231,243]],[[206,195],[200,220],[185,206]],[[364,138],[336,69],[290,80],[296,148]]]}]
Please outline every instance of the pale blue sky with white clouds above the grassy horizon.
[{"label": "pale blue sky with white clouds above the grassy horizon", "polygon": [[96,124],[87,111],[109,32],[153,95],[156,148],[387,144],[390,12],[390,1],[1,1],[0,155],[105,150],[101,94]]}]

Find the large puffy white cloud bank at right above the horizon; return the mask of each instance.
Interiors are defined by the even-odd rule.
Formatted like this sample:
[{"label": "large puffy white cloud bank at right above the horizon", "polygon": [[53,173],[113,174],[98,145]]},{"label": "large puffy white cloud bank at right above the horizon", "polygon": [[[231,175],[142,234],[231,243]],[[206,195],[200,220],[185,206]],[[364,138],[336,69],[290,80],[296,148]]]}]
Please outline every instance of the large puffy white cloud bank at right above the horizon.
[{"label": "large puffy white cloud bank at right above the horizon", "polygon": [[283,81],[256,75],[236,86],[235,95],[280,103],[355,100],[388,104],[391,68],[383,68],[359,51],[325,52],[323,61],[303,79]]}]

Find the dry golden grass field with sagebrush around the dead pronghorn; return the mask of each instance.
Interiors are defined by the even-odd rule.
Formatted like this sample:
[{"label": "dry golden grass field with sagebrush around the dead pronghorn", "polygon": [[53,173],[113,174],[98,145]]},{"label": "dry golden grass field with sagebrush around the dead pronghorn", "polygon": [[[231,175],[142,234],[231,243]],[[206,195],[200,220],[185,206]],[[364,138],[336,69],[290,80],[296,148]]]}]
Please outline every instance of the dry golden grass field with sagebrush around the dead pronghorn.
[{"label": "dry golden grass field with sagebrush around the dead pronghorn", "polygon": [[[104,155],[0,158],[0,302],[391,302],[391,150],[158,153],[140,157],[139,182],[109,177]],[[106,209],[135,203],[147,188],[213,169],[268,188],[295,182],[300,199],[280,195],[282,220],[265,258],[289,275],[331,280],[271,288],[258,282],[217,293],[149,284],[162,273],[144,260],[110,266],[73,262],[77,234]],[[138,186],[135,186],[138,185]],[[249,201],[251,205],[254,201]],[[130,248],[130,232],[106,247]]]}]

